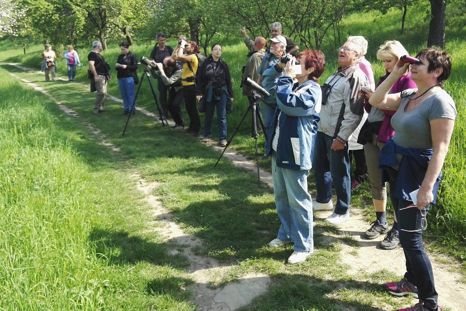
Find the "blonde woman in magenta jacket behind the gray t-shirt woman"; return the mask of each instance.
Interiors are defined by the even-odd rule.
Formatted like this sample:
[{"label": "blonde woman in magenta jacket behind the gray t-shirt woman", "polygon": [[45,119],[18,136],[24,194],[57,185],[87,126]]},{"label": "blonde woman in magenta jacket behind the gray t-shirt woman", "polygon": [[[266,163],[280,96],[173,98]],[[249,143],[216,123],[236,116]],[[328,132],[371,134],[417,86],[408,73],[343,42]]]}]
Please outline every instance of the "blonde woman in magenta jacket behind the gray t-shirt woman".
[{"label": "blonde woman in magenta jacket behind the gray t-shirt woman", "polygon": [[[399,41],[385,41],[385,43],[379,47],[377,59],[384,64],[385,75],[380,77],[377,87],[391,74],[395,64],[403,55],[408,55],[408,52]],[[393,84],[390,93],[398,93],[415,88],[417,88],[417,86],[416,83],[411,80],[411,72],[406,70],[404,75]],[[369,230],[365,232],[365,236],[368,239],[375,239],[381,234],[388,233],[384,241],[380,243],[380,247],[383,249],[394,249],[399,244],[398,222],[395,215],[393,227],[389,231],[388,222],[385,218],[387,188],[385,184],[382,185],[380,182],[382,180],[382,170],[378,168],[378,159],[380,150],[384,147],[387,140],[395,134],[390,123],[391,117],[395,114],[395,111],[372,107],[367,101],[364,104],[364,108],[369,113],[367,120],[372,130],[369,135],[370,139],[368,139],[367,144],[364,145],[364,153],[369,173],[372,202],[374,203],[377,217]]]}]

